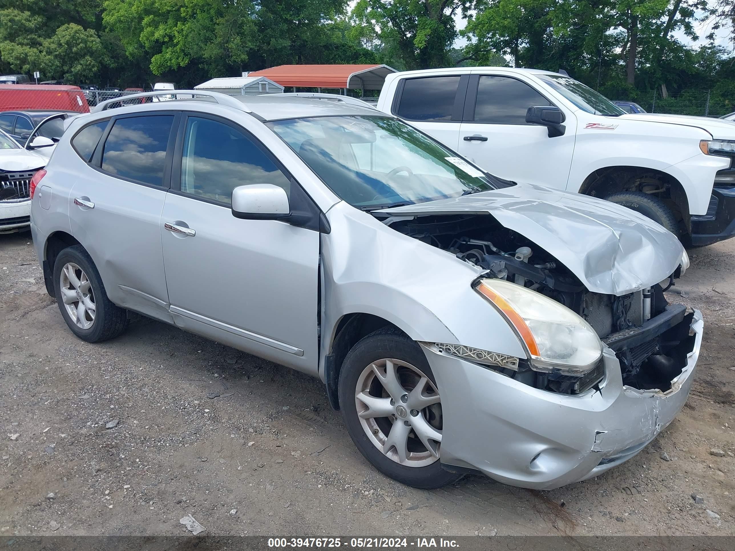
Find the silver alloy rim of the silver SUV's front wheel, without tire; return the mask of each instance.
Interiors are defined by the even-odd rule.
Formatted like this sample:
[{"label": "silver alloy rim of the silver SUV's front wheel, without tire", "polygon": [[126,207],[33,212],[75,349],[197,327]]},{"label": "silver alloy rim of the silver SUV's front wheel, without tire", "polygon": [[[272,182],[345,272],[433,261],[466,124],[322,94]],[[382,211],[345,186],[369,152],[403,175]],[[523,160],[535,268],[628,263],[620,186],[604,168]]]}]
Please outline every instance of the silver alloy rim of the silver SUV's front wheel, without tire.
[{"label": "silver alloy rim of the silver SUV's front wheel, without tire", "polygon": [[442,406],[437,387],[405,361],[373,361],[360,374],[355,403],[365,434],[384,455],[406,467],[439,459]]}]

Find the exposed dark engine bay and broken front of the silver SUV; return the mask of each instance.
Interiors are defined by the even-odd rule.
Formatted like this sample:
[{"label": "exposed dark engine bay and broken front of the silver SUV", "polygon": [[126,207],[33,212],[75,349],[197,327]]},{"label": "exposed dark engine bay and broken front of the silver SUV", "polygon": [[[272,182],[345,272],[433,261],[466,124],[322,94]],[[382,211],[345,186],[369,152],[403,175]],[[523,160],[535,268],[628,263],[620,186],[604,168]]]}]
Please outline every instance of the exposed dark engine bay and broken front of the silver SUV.
[{"label": "exposed dark engine bay and broken front of the silver SUV", "polygon": [[[686,314],[681,305],[670,306],[664,297],[675,274],[665,287],[654,284],[628,295],[604,295],[590,292],[551,253],[505,228],[492,216],[389,217],[384,223],[487,270],[485,278],[522,285],[575,311],[615,351],[626,386],[666,392],[694,348],[691,312]],[[599,389],[605,375],[602,361],[582,377],[537,372],[526,360],[520,361],[517,371],[503,367],[496,370],[536,388],[563,394]]]}]

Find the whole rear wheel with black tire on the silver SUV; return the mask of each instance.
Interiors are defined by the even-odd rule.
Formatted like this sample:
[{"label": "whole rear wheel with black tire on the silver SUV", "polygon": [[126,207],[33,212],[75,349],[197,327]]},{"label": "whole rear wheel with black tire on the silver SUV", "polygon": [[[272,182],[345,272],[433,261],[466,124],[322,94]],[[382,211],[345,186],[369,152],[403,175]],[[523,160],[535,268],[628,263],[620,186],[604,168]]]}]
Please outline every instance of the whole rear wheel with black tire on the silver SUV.
[{"label": "whole rear wheel with black tire on the silver SUV", "polygon": [[125,331],[127,312],[115,306],[82,245],[65,248],[54,260],[54,295],[72,333],[87,342],[112,339]]}]

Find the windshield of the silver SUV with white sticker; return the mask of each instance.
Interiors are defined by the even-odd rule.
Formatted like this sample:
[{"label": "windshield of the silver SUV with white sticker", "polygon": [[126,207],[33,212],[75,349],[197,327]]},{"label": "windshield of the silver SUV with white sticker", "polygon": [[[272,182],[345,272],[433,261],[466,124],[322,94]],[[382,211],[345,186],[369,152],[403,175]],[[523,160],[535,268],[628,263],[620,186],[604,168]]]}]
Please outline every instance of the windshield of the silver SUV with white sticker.
[{"label": "windshield of the silver SUV with white sticker", "polygon": [[334,193],[365,210],[510,184],[395,118],[315,117],[276,120],[268,126]]}]

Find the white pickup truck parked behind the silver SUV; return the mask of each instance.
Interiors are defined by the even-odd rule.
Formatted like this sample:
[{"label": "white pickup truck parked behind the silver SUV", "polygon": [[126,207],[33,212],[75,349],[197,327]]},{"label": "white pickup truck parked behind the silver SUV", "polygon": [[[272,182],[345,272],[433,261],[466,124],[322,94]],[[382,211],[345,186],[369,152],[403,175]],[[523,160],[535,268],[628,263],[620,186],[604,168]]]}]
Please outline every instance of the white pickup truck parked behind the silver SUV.
[{"label": "white pickup truck parked behind the silver SUV", "polygon": [[378,109],[502,178],[606,198],[685,243],[735,236],[735,123],[628,114],[569,76],[506,67],[387,76]]}]

